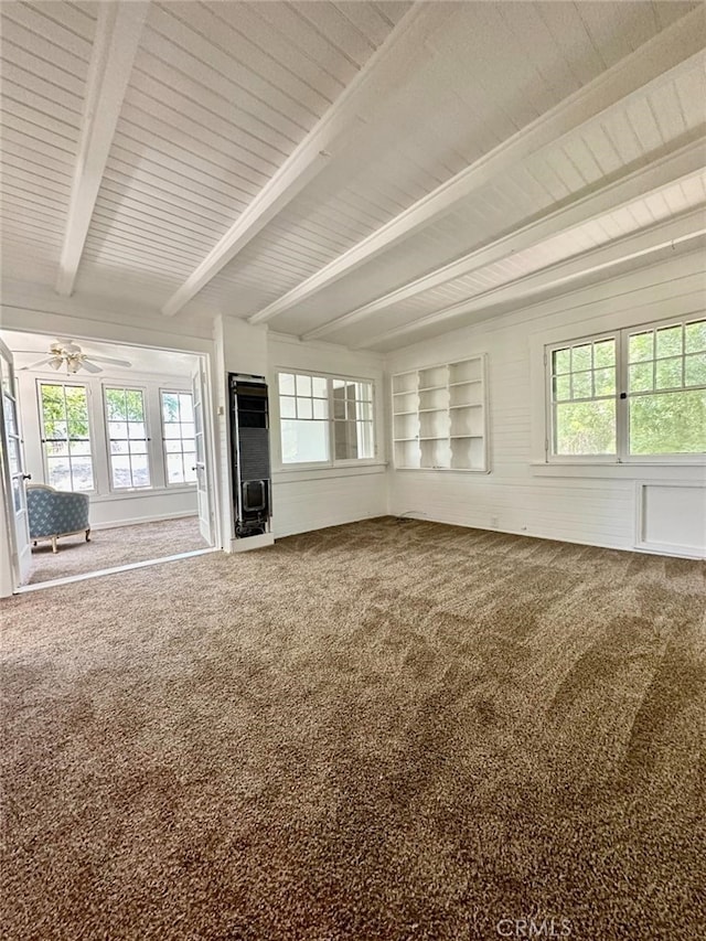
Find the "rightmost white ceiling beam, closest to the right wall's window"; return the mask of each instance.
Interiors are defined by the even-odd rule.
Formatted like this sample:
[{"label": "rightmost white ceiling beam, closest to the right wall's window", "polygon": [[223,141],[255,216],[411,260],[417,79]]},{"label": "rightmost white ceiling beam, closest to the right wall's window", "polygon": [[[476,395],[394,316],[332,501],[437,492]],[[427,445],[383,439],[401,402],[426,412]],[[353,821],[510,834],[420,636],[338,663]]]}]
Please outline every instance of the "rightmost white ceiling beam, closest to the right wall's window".
[{"label": "rightmost white ceiling beam, closest to the right wall's window", "polygon": [[[616,239],[608,245],[591,248],[564,261],[557,261],[539,271],[533,271],[512,281],[489,288],[482,293],[458,301],[442,310],[428,313],[410,323],[377,334],[373,333],[365,339],[365,342],[351,344],[350,349],[367,350],[375,347],[391,340],[406,336],[408,333],[428,327],[437,327],[464,314],[482,311],[491,306],[507,302],[528,302],[533,296],[568,285],[577,279],[590,277],[599,271],[614,268],[625,261],[633,261],[665,248],[675,248],[677,245],[703,238],[706,235],[705,218],[704,206],[689,210],[666,222],[656,223],[639,233]],[[454,328],[449,327],[448,329]],[[409,342],[414,343],[414,340]]]}]

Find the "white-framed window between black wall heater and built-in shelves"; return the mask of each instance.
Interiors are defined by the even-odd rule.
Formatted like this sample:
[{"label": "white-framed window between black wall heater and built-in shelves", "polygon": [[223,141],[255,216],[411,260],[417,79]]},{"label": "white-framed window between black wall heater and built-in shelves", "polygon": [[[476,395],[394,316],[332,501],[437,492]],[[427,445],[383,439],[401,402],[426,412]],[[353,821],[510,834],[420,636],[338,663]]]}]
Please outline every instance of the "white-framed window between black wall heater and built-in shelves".
[{"label": "white-framed window between black wall heater and built-in shelves", "polygon": [[375,457],[373,383],[280,373],[282,463],[336,463]]}]

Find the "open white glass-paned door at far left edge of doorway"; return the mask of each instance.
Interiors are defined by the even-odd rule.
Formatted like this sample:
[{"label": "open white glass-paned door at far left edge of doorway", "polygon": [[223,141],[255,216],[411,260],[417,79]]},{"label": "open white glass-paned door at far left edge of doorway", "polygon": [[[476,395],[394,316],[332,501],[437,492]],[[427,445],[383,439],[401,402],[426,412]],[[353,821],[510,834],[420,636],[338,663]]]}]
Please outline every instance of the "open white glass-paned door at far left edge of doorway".
[{"label": "open white glass-paned door at far left edge of doorway", "polygon": [[24,449],[20,428],[12,353],[0,341],[0,456],[2,458],[3,512],[12,555],[13,588],[24,585],[30,575],[32,548],[26,512]]}]

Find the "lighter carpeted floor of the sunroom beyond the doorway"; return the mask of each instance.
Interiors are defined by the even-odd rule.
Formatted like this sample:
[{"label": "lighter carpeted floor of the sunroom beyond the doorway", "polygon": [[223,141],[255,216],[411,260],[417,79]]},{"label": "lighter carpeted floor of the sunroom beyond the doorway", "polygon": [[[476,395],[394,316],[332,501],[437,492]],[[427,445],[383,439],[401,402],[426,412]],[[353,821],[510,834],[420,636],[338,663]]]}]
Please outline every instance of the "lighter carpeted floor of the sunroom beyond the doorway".
[{"label": "lighter carpeted floor of the sunroom beyond the doorway", "polygon": [[93,530],[89,543],[83,535],[64,536],[58,541],[56,554],[49,542],[33,546],[29,584],[205,548],[207,545],[199,532],[196,516]]}]

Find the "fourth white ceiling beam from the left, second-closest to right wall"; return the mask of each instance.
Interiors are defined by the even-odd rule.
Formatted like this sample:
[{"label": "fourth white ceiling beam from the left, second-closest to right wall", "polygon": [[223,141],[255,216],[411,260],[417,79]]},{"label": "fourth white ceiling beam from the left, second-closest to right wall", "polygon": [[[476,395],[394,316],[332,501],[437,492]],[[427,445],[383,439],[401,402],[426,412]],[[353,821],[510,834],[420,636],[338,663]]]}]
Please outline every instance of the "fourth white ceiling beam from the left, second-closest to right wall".
[{"label": "fourth white ceiling beam from the left, second-closest to right wall", "polygon": [[429,271],[424,277],[409,281],[395,291],[376,298],[349,313],[341,314],[321,324],[321,327],[308,331],[301,339],[317,340],[335,333],[353,323],[381,313],[387,308],[409,300],[409,298],[438,288],[457,278],[471,275],[486,265],[492,265],[516,252],[522,252],[552,235],[557,235],[580,223],[597,218],[610,210],[619,208],[642,195],[663,189],[680,179],[700,171],[704,167],[705,150],[703,128],[699,131],[699,133],[694,133],[691,143],[683,145],[654,163],[627,173],[607,186],[602,186],[567,206],[547,213],[542,218],[516,229],[510,235],[469,252],[468,255],[457,258],[449,265]]}]

